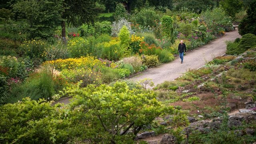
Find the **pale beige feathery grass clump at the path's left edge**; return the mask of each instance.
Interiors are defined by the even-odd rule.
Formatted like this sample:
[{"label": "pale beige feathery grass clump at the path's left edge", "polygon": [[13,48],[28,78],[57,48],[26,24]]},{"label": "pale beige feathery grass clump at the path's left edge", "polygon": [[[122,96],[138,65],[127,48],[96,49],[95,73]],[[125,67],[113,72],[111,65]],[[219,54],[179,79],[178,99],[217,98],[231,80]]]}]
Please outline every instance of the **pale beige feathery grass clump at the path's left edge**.
[{"label": "pale beige feathery grass clump at the path's left edge", "polygon": [[142,66],[142,60],[137,57],[137,56],[132,56],[129,58],[124,58],[123,59],[124,64],[130,64],[132,65],[133,69],[134,69],[134,73],[137,73],[140,71],[140,68]]}]

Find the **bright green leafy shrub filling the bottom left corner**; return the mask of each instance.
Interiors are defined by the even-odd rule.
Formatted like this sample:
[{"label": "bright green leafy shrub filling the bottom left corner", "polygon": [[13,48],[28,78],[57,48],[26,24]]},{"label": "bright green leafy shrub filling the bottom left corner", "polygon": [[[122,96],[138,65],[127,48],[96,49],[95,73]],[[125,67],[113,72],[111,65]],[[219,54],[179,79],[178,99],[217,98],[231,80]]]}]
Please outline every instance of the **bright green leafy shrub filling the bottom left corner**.
[{"label": "bright green leafy shrub filling the bottom left corner", "polygon": [[0,107],[0,143],[66,143],[70,121],[45,100],[23,99]]}]

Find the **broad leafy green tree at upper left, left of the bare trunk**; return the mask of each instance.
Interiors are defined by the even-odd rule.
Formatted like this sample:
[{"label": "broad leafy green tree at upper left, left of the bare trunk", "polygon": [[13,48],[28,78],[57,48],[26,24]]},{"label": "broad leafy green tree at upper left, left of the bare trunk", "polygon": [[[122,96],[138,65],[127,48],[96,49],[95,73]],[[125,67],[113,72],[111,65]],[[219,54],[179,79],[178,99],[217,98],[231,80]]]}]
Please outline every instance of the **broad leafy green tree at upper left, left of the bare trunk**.
[{"label": "broad leafy green tree at upper left, left of the bare trunk", "polygon": [[60,25],[63,0],[18,0],[12,5],[15,14],[22,14],[29,24],[29,38],[50,38]]}]

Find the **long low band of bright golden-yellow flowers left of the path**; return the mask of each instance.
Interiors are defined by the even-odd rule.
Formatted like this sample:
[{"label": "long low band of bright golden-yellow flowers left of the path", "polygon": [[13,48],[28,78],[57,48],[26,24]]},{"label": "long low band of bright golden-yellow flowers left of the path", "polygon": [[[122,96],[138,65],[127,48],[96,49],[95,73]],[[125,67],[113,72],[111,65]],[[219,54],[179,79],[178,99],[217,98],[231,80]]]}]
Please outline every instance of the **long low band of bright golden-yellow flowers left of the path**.
[{"label": "long low band of bright golden-yellow flowers left of the path", "polygon": [[57,59],[57,60],[51,60],[46,61],[43,63],[43,65],[50,64],[52,66],[55,66],[58,70],[63,69],[76,69],[76,68],[93,68],[94,66],[104,66],[102,62],[98,59],[94,59],[93,56],[86,56],[81,58],[67,58],[67,59]]}]

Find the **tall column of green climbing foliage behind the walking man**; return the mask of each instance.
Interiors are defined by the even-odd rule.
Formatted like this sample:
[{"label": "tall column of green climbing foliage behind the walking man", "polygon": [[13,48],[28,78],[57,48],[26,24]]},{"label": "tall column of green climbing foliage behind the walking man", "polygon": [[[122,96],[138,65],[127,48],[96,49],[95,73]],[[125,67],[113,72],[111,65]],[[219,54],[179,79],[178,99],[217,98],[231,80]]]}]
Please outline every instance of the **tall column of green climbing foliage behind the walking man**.
[{"label": "tall column of green climbing foliage behind the walking man", "polygon": [[164,36],[171,41],[174,41],[174,28],[173,28],[173,20],[172,17],[164,15],[161,18],[162,23],[162,32]]}]

